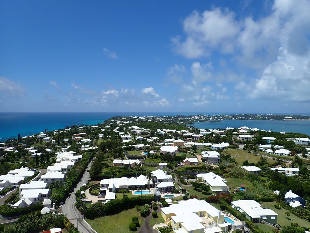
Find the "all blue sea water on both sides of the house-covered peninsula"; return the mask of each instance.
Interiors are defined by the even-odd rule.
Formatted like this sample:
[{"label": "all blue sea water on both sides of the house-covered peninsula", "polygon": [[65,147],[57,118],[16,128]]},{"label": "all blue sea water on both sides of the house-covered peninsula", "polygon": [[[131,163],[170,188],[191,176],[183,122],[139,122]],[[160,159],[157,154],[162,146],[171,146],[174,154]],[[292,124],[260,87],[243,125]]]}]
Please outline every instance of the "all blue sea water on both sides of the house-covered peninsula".
[{"label": "all blue sea water on both sides of the house-covered peninsula", "polygon": [[[63,129],[72,125],[91,125],[115,116],[176,116],[195,114],[238,114],[232,112],[0,112],[0,141],[29,136],[44,129]],[[303,114],[300,114],[303,115]],[[308,115],[308,114],[307,114]],[[310,115],[310,114],[309,114]],[[273,131],[301,132],[310,135],[310,121],[237,121],[219,123],[198,122],[196,128],[226,128],[247,126]]]}]

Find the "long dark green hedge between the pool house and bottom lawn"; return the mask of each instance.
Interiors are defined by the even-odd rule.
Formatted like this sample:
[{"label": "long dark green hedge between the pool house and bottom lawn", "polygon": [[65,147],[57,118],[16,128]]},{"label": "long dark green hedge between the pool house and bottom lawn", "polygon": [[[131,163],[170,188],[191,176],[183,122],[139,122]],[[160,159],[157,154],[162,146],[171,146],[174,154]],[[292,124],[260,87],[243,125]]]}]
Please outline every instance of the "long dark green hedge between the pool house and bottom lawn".
[{"label": "long dark green hedge between the pool house and bottom lawn", "polygon": [[124,209],[130,209],[136,205],[149,204],[155,200],[155,197],[143,195],[128,198],[127,196],[122,199],[114,199],[105,204],[101,202],[93,203],[90,206],[85,208],[85,216],[87,218],[96,218],[101,217],[100,213],[104,212],[107,215],[112,215],[114,213],[120,212]]}]

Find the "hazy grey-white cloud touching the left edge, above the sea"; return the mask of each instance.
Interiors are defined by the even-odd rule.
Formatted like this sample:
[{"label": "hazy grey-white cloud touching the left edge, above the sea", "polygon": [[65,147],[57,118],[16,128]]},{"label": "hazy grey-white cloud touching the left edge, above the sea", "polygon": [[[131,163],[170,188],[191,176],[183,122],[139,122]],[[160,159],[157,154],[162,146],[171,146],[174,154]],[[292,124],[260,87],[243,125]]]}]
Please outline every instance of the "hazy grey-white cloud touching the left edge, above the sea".
[{"label": "hazy grey-white cloud touching the left edge, above the sea", "polygon": [[6,96],[23,97],[25,94],[26,88],[23,85],[11,79],[0,77],[0,95],[3,95],[3,98]]}]

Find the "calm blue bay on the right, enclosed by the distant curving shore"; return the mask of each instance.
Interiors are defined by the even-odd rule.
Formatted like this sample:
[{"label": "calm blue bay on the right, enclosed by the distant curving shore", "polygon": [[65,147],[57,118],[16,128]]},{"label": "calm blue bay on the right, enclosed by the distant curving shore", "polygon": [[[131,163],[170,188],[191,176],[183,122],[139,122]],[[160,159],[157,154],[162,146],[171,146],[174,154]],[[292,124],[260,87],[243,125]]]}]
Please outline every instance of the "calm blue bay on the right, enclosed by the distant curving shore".
[{"label": "calm blue bay on the right, enclosed by the distant curving shore", "polygon": [[259,120],[224,120],[221,122],[195,122],[191,125],[198,129],[225,129],[226,127],[258,128],[274,132],[294,132],[310,135],[310,121],[259,121]]}]

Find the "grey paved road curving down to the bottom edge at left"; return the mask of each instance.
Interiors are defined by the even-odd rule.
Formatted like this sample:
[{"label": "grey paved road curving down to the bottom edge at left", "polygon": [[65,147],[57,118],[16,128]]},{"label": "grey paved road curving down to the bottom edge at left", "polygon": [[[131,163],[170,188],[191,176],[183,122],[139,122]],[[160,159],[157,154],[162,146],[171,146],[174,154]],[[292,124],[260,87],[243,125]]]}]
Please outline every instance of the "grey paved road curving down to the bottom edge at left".
[{"label": "grey paved road curving down to the bottom edge at left", "polygon": [[67,218],[75,227],[78,226],[78,231],[81,231],[83,233],[93,233],[93,231],[91,231],[91,229],[83,222],[83,216],[76,210],[74,205],[75,204],[74,193],[82,186],[82,184],[86,183],[86,181],[89,179],[89,172],[87,170],[90,168],[91,168],[91,162],[86,168],[86,171],[84,172],[84,175],[82,179],[79,181],[77,187],[71,192],[69,197],[67,197],[66,202],[62,206],[63,214],[67,216]]}]

